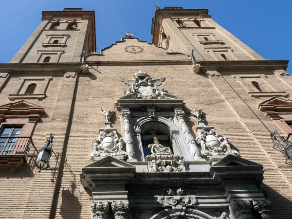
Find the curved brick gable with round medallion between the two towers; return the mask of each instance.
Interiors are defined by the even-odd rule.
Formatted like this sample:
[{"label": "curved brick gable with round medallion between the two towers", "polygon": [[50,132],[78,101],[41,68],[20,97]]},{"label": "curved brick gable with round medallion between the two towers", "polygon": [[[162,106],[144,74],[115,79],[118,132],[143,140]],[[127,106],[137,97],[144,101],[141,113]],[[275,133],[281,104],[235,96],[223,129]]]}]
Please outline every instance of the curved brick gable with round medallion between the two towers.
[{"label": "curved brick gable with round medallion between the two towers", "polygon": [[86,55],[87,62],[99,61],[182,61],[191,63],[188,55],[168,51],[138,38],[122,38],[101,50],[100,54]]}]

